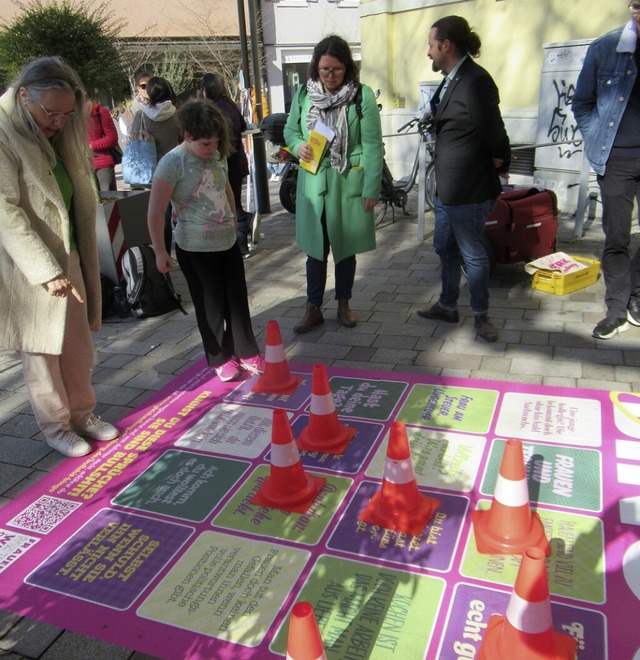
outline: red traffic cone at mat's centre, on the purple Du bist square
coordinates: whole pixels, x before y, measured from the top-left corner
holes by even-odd
[[[393,422],[387,446],[382,488],[359,519],[417,536],[427,526],[440,500],[418,492],[404,422]]]

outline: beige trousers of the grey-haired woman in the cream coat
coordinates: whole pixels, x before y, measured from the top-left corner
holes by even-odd
[[[68,277],[86,299],[80,258],[76,251],[69,259]],[[20,353],[31,407],[46,438],[69,429],[70,422],[81,423],[96,406],[91,385],[95,355],[87,308],[74,296],[67,298],[67,317],[61,355]]]

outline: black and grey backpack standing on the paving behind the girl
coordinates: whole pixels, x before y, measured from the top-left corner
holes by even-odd
[[[161,316],[179,309],[181,304],[169,273],[156,268],[156,255],[151,245],[135,245],[122,258],[122,272],[127,286],[127,302],[139,319]]]

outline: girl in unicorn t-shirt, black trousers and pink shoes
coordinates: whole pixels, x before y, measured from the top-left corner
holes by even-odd
[[[184,141],[158,163],[147,222],[161,273],[171,270],[163,238],[169,201],[175,213],[176,257],[187,280],[209,366],[221,380],[264,371],[251,328],[247,283],[236,243],[236,208],[227,175],[229,128],[207,99],[179,113]]]

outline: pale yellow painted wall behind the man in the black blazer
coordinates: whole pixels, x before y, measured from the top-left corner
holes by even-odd
[[[469,21],[482,40],[477,61],[493,75],[502,107],[519,109],[538,107],[544,44],[594,38],[629,20],[626,0],[467,0],[402,7],[397,0],[361,0],[361,77],[381,89],[387,108],[394,107],[394,97],[416,108],[419,83],[441,79],[431,70],[427,38],[443,16]],[[380,13],[367,15],[371,11]]]

